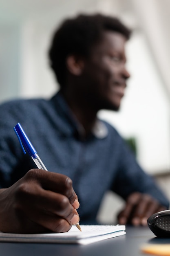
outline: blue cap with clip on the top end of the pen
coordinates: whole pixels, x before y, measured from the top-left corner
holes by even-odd
[[[20,144],[22,146],[22,150],[24,151],[24,154],[26,154],[26,152],[25,152],[23,146],[28,151],[30,156],[34,156],[34,154],[36,154],[37,151],[35,150],[35,148],[31,144],[31,141],[29,140],[29,138],[26,136],[26,133],[24,132],[24,130],[23,130],[22,126],[20,125],[20,123],[15,125],[15,127],[13,129],[14,129],[14,131],[15,131],[15,133],[16,133],[19,141],[20,141]]]

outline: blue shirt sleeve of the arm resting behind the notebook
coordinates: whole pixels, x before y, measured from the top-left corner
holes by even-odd
[[[112,190],[126,200],[133,192],[147,193],[161,205],[169,207],[169,201],[157,186],[153,177],[142,170],[135,155],[123,141],[119,155],[119,168],[112,184]]]

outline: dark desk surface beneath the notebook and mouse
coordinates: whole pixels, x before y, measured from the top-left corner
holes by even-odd
[[[145,243],[170,243],[158,239],[148,227],[126,227],[127,234],[90,245],[0,243],[2,256],[146,256],[140,252]],[[153,239],[154,238],[154,239]]]

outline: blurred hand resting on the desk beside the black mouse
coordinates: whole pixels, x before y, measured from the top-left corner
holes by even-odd
[[[126,206],[117,218],[120,225],[146,226],[147,219],[153,213],[163,210],[166,210],[166,207],[160,205],[150,195],[135,192],[127,198]]]

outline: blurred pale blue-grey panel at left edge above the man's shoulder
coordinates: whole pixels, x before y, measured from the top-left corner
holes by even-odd
[[[0,99],[18,95],[20,29],[18,24],[0,24]]]

